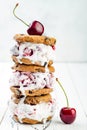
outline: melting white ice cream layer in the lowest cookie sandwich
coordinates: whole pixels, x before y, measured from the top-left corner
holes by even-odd
[[[19,104],[12,101],[9,103],[12,114],[17,115],[20,122],[23,118],[44,121],[55,113],[56,103],[53,99],[48,103],[43,102],[37,105],[24,104],[23,100]]]

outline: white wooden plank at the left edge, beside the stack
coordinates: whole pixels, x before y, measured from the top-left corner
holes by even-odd
[[[9,100],[10,63],[0,63],[0,121],[3,118]]]

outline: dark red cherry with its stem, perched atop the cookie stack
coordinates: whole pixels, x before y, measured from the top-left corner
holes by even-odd
[[[27,24],[25,21],[23,21],[22,19],[20,19],[16,13],[15,13],[15,10],[17,8],[19,4],[17,3],[13,9],[13,14],[14,16],[19,19],[22,23],[24,23],[26,26],[28,26],[28,29],[27,29],[27,33],[29,35],[42,35],[43,32],[44,32],[44,26],[42,23],[40,23],[39,21],[35,20],[32,22],[32,24]]]

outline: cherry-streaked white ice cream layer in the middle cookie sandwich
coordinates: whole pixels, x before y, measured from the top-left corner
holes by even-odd
[[[19,90],[33,90],[42,88],[54,88],[55,77],[52,73],[13,72],[10,78],[10,86],[20,86]]]

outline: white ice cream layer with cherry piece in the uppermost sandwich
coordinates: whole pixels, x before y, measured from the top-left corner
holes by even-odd
[[[32,63],[39,62],[42,66],[49,60],[54,61],[54,50],[51,46],[45,44],[33,44],[26,42],[20,45],[15,45],[11,49],[12,55],[16,55],[19,63],[20,59],[27,58],[32,61]]]

